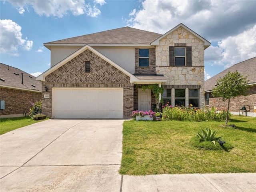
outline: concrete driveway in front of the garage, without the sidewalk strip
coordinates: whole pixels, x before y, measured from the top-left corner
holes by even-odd
[[[119,192],[123,122],[50,119],[1,135],[1,192]]]

